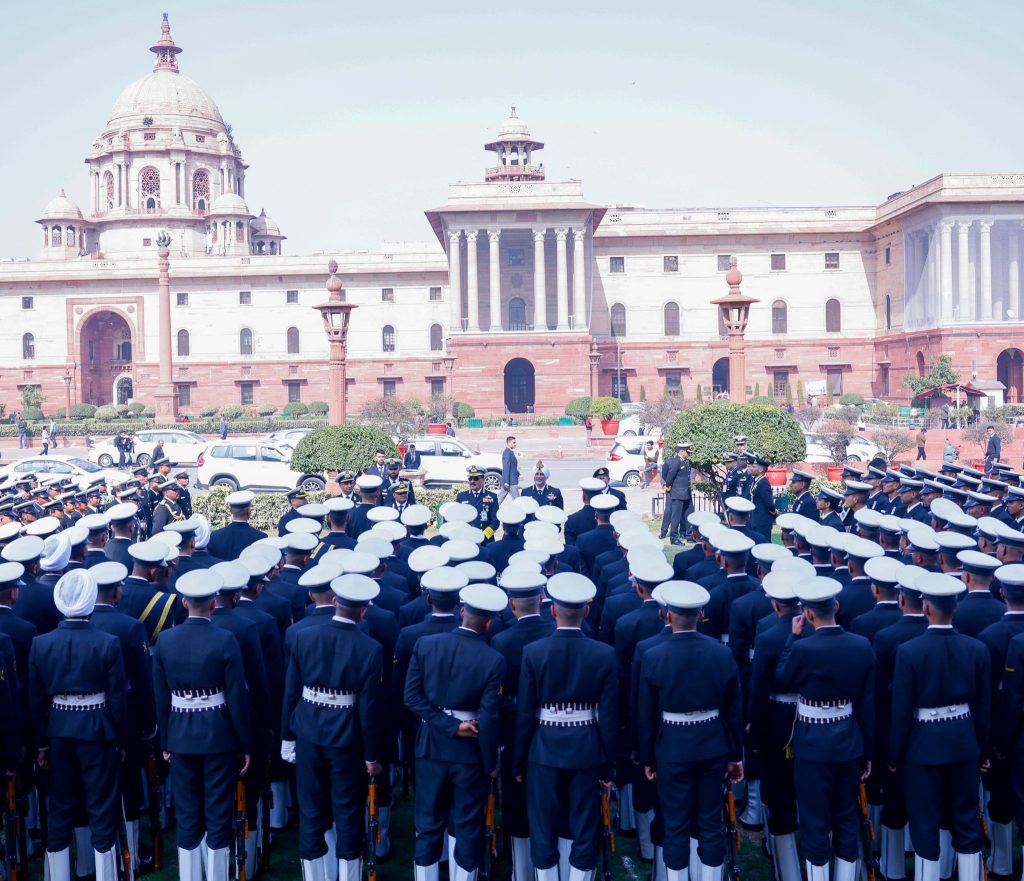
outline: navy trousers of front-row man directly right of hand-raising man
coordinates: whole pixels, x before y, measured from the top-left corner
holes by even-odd
[[[910,841],[925,859],[939,858],[939,827],[948,816],[953,849],[957,853],[981,850],[978,820],[978,761],[944,765],[907,763],[903,768]]]

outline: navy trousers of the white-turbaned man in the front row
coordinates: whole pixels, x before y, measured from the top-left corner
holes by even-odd
[[[46,849],[71,846],[76,793],[81,793],[89,819],[93,849],[110,850],[117,841],[121,820],[121,753],[112,743],[53,738],[47,757],[49,769]]]

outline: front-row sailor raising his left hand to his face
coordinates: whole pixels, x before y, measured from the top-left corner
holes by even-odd
[[[794,586],[803,614],[776,668],[776,687],[798,696],[792,746],[808,881],[827,881],[834,850],[836,881],[856,878],[857,787],[872,755],[874,656],[836,624],[840,590],[829,578]]]

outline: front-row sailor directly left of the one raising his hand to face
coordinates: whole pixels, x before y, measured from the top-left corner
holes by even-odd
[[[639,687],[640,762],[657,785],[669,881],[681,881],[689,838],[698,839],[701,881],[722,878],[722,781],[743,778],[739,677],[728,648],[696,632],[709,594],[699,585],[660,585],[672,636],[644,654]],[[688,670],[699,683],[680,687]],[[694,835],[694,833],[696,833]]]

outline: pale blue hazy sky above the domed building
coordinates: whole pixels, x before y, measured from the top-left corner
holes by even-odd
[[[1024,170],[1024,4],[7,0],[0,254],[38,256],[61,187],[87,209],[83,160],[164,11],[286,253],[431,241],[424,210],[482,180],[511,104],[548,179],[609,206],[876,205]]]

